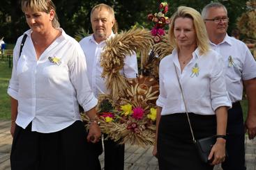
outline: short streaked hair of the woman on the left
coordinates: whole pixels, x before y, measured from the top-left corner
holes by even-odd
[[[46,12],[50,13],[50,10],[54,10],[54,19],[52,19],[52,26],[59,28],[58,16],[56,13],[56,7],[52,0],[22,0],[22,11],[32,10],[35,12]]]

